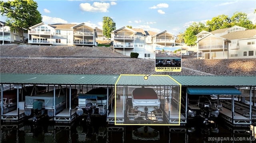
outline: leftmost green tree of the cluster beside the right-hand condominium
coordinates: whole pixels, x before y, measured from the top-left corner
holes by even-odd
[[[203,30],[208,30],[206,25],[201,22],[194,22],[190,25],[184,32],[184,41],[187,46],[194,46],[196,45],[196,34]]]

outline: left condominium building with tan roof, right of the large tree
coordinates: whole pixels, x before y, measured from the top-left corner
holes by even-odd
[[[81,24],[52,24],[43,22],[29,27],[28,43],[38,45],[95,46],[96,29]]]

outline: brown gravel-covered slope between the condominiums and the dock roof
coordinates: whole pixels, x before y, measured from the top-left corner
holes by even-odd
[[[129,58],[113,52],[108,47],[5,44],[0,46],[0,56],[2,73],[150,74],[154,72],[155,67],[154,60]],[[16,56],[16,58],[6,58],[6,56]],[[30,58],[17,56],[30,56]],[[42,56],[52,57],[38,58]],[[53,58],[56,56],[69,58]],[[256,59],[182,59],[181,72],[154,74],[256,76]]]

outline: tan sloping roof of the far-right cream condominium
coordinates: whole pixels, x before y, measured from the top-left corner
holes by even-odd
[[[246,29],[245,31],[236,31],[231,32],[226,35],[222,35],[225,39],[246,39],[246,38],[253,38],[256,35],[256,29]]]

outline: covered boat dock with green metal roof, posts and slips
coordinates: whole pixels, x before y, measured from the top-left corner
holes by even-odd
[[[72,123],[78,119],[78,100],[77,96],[73,95],[73,90],[76,94],[87,93],[90,89],[107,87],[112,88],[114,94],[108,94],[104,99],[106,109],[98,109],[98,114],[106,116],[106,122],[114,125],[167,125],[167,126],[182,126],[188,123],[188,119],[194,114],[189,110],[202,110],[199,105],[192,106],[188,104],[189,98],[193,96],[205,96],[215,94],[217,106],[216,115],[225,123],[234,127],[248,127],[255,122],[256,110],[252,105],[252,98],[256,93],[255,76],[169,76],[169,75],[150,75],[146,80],[144,75],[84,75],[84,74],[4,74],[0,73],[1,79],[1,99],[3,99],[3,87],[5,84],[15,84],[17,106],[16,110],[3,113],[3,100],[1,100],[1,121],[2,122],[21,122],[31,119],[32,116],[26,115],[26,109],[30,107],[31,115],[34,108],[34,102],[42,102],[42,107],[46,102],[38,94],[23,95],[22,91],[26,85],[44,86],[54,88],[47,103],[50,105],[46,110],[50,117],[50,121],[54,123]],[[200,79],[200,80],[198,80]],[[203,81],[203,82],[202,82]],[[60,96],[61,89],[66,90]],[[160,100],[160,106],[155,106],[154,110],[147,112],[148,105],[142,105],[145,112],[133,108],[132,91],[136,88],[152,88]],[[34,89],[34,88],[33,88]],[[72,93],[70,92],[72,90]],[[234,101],[234,97],[242,96],[241,90],[249,91],[247,106],[241,106],[240,102]],[[56,92],[58,91],[58,92]],[[68,91],[68,92],[67,92]],[[35,94],[35,90],[31,90]],[[44,93],[40,93],[44,94]],[[40,95],[39,94],[39,95]],[[230,99],[222,98],[221,95],[230,95]],[[24,101],[24,97],[28,100]],[[219,97],[220,96],[220,97]],[[40,98],[37,98],[40,97]],[[55,98],[54,98],[55,97]],[[74,98],[73,98],[74,97]],[[115,97],[115,98],[114,98]],[[60,99],[61,98],[61,99]],[[86,98],[89,99],[89,98]],[[94,98],[90,98],[93,100]],[[95,98],[96,99],[96,98]],[[105,102],[106,100],[106,102]],[[148,100],[145,98],[145,100]],[[103,101],[103,100],[102,100]],[[151,100],[148,100],[151,101]],[[30,102],[28,104],[28,102]],[[145,102],[145,101],[143,101]],[[226,103],[225,103],[226,102]],[[99,102],[97,102],[98,104]],[[146,103],[146,102],[145,102]],[[96,104],[96,102],[95,102]],[[224,104],[226,104],[224,106]],[[63,108],[56,110],[57,106]],[[213,105],[213,104],[212,104]],[[222,106],[220,110],[218,107]],[[228,106],[227,106],[228,105]],[[136,104],[140,106],[140,104]],[[7,107],[7,106],[5,106]],[[37,105],[37,107],[39,107]],[[85,105],[83,111],[85,111]],[[150,107],[150,108],[152,108]],[[140,107],[139,107],[140,108]],[[239,110],[238,110],[239,108]],[[41,110],[41,108],[40,108]],[[42,108],[42,111],[44,109]],[[140,109],[141,110],[141,109]],[[105,111],[105,112],[101,112]],[[190,116],[190,113],[192,116]],[[39,116],[43,114],[39,112]],[[97,115],[98,115],[97,114]],[[213,113],[211,113],[213,114]],[[87,114],[84,114],[87,116]],[[96,114],[95,114],[96,115]],[[189,117],[188,117],[189,116]],[[36,116],[38,117],[38,116]],[[217,117],[216,117],[217,118]],[[207,119],[207,118],[206,118]],[[210,119],[209,119],[210,120]]]

